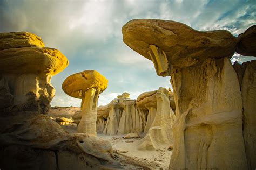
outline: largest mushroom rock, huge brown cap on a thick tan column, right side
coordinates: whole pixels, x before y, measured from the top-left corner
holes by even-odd
[[[153,19],[131,20],[122,33],[126,45],[153,61],[158,75],[171,76],[177,118],[170,169],[247,169],[252,157],[242,131],[245,99],[229,60],[237,39],[225,30],[201,32]]]

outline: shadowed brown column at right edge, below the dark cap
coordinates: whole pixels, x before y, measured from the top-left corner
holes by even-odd
[[[256,168],[256,60],[234,64],[242,93],[243,131],[249,169]]]

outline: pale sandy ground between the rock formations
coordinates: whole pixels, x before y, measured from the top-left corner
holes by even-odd
[[[72,118],[72,115],[80,110],[76,107],[61,107],[51,108],[49,116]],[[62,125],[62,128],[69,133],[77,133],[76,126]],[[128,138],[125,139],[125,135],[119,136],[107,136],[104,134],[98,134],[100,138],[109,140],[112,143],[114,153],[117,154],[123,160],[134,165],[140,165],[143,169],[168,169],[171,159],[172,151],[170,150],[158,150],[158,151],[140,151],[137,150],[139,140],[141,138]],[[125,162],[124,162],[125,163]]]

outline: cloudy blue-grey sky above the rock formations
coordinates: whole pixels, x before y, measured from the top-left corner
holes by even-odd
[[[137,98],[145,91],[171,88],[169,76],[157,76],[152,61],[123,42],[122,26],[139,18],[175,20],[196,30],[224,29],[238,36],[256,24],[256,1],[0,0],[0,32],[34,33],[45,47],[59,49],[70,62],[52,77],[52,106],[80,106],[81,100],[66,95],[61,86],[69,75],[88,69],[109,80],[98,105],[125,91]],[[231,61],[252,59],[235,53]]]

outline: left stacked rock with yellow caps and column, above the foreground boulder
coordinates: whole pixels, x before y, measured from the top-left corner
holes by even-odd
[[[0,33],[0,109],[46,114],[55,95],[51,77],[68,64],[58,49],[45,48],[34,34]]]

